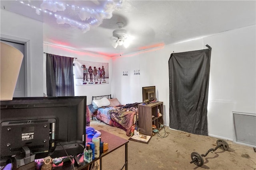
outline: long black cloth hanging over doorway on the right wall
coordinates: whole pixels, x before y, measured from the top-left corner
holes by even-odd
[[[169,59],[170,128],[208,135],[210,57],[211,48],[171,54]]]

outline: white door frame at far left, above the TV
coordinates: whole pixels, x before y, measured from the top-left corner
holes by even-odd
[[[14,37],[12,35],[0,34],[0,39],[12,43],[24,44],[24,63],[25,63],[25,97],[31,96],[31,50],[30,39]]]

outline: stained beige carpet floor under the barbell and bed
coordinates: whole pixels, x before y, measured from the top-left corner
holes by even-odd
[[[129,139],[124,130],[111,127],[102,122],[91,121],[90,126]],[[238,145],[226,141],[229,150],[217,149],[210,152],[204,159],[204,165],[199,167],[190,164],[192,152],[206,154],[216,147],[217,138],[194,135],[183,131],[175,131],[165,127],[168,137],[155,135],[148,144],[129,141],[128,170],[256,170],[256,152],[252,147]],[[162,129],[160,135],[164,135]],[[102,158],[103,170],[120,170],[124,164],[124,147],[115,150]]]

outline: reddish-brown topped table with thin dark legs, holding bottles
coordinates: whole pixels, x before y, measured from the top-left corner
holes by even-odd
[[[92,160],[92,162],[90,162],[90,163],[85,162],[84,157],[81,154],[80,156],[78,156],[78,159],[81,162],[80,166],[77,166],[76,163],[74,164],[76,170],[83,170],[86,167],[88,167],[89,165],[93,164],[97,160],[100,160],[100,170],[102,170],[102,158],[104,156],[108,155],[109,153],[113,152],[114,150],[124,146],[124,145],[125,145],[125,164],[121,169],[123,169],[125,167],[125,170],[128,170],[128,142],[129,141],[126,140],[126,139],[123,139],[121,137],[118,137],[116,135],[113,135],[111,133],[108,133],[106,131],[103,131],[103,130],[99,130],[99,131],[101,132],[101,140],[104,143],[108,143],[108,150],[105,151],[104,153],[102,153],[100,155],[100,157],[95,158],[94,160]],[[90,142],[91,140],[92,140],[91,138],[88,138],[86,136],[86,142]],[[74,163],[74,160],[72,160],[72,162]],[[53,167],[53,170],[61,170],[61,169],[73,170],[73,166],[70,163],[67,163],[67,164],[62,164],[61,166],[54,166]]]

